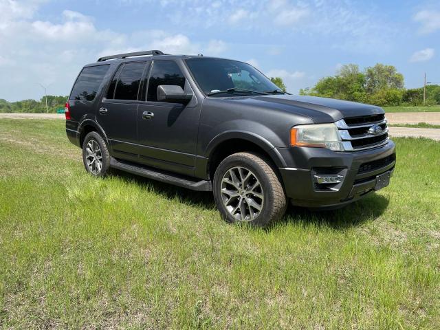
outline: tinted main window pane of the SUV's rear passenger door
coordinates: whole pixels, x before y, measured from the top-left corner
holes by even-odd
[[[115,99],[137,100],[137,91],[139,90],[144,67],[144,62],[124,64],[118,83],[116,83]]]

